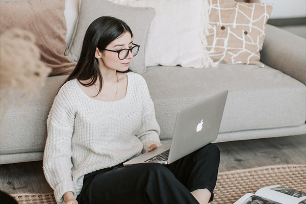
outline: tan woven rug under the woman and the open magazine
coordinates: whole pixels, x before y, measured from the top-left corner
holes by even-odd
[[[233,204],[246,193],[258,189],[282,185],[306,191],[306,165],[278,165],[219,172],[212,204]],[[19,204],[55,204],[53,193],[11,194]]]

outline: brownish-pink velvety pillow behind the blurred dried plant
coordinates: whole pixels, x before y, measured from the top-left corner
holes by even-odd
[[[30,31],[36,37],[41,60],[52,68],[49,76],[70,74],[75,63],[64,56],[67,48],[64,10],[64,0],[0,2],[0,34],[10,28]]]

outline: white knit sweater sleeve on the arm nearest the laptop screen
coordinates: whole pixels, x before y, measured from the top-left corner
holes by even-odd
[[[141,77],[141,99],[143,104],[143,114],[141,118],[141,127],[136,134],[138,139],[143,144],[142,152],[148,151],[147,148],[156,144],[161,146],[161,141],[159,139],[159,134],[161,132],[160,126],[156,120],[154,103],[151,99],[147,84],[145,80]]]

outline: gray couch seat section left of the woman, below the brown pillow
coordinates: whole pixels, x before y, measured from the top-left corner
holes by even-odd
[[[43,151],[47,138],[47,117],[60,85],[68,75],[48,77],[40,98],[25,107],[8,107],[0,125],[0,154]],[[20,96],[22,98],[22,96]]]

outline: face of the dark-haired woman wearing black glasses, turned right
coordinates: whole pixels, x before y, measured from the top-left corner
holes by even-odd
[[[132,47],[131,33],[124,32],[115,40],[113,40],[110,44],[108,44],[106,46],[106,49],[117,51],[120,49],[129,49],[131,47]],[[105,68],[114,69],[118,71],[126,71],[127,69],[129,69],[130,61],[132,58],[133,55],[131,52],[129,52],[129,55],[123,60],[120,60],[118,58],[118,53],[115,52],[103,50],[103,53],[101,53],[102,65]]]

